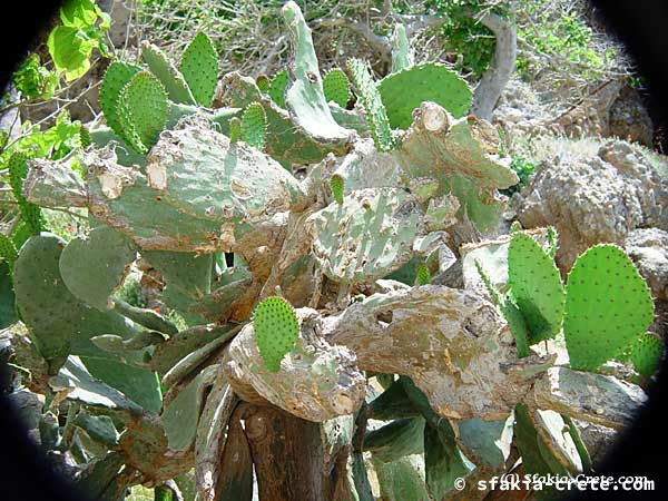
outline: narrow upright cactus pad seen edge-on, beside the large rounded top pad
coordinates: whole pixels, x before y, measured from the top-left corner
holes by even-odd
[[[392,136],[385,106],[376,84],[373,81],[369,65],[360,59],[351,58],[347,61],[347,70],[353,78],[360,100],[366,112],[369,130],[376,148],[380,151],[390,151],[396,146],[396,140]]]

